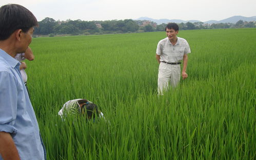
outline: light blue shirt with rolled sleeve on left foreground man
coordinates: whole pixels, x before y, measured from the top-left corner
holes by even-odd
[[[19,72],[20,64],[0,49],[0,132],[10,133],[21,159],[45,159],[34,109]]]

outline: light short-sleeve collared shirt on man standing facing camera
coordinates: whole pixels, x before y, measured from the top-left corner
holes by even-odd
[[[184,54],[190,53],[190,47],[186,39],[177,37],[178,40],[175,45],[172,45],[169,38],[162,39],[156,48],[156,54],[160,55],[160,61],[169,63],[181,62]]]

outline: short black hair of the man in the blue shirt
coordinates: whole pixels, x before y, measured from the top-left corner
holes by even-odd
[[[26,33],[35,26],[38,26],[37,20],[27,8],[16,4],[0,8],[0,41],[8,39],[17,29]]]

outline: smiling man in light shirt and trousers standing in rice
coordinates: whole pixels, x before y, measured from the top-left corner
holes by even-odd
[[[184,38],[177,37],[179,26],[175,23],[169,23],[166,28],[167,37],[162,39],[156,48],[155,58],[159,65],[158,88],[157,92],[163,95],[168,90],[169,82],[172,88],[175,88],[181,77],[181,61],[183,60],[182,77],[187,78],[186,73],[189,45]]]

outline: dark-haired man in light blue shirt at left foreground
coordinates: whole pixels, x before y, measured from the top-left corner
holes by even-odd
[[[0,159],[46,159],[40,130],[19,72],[17,53],[32,40],[35,16],[20,5],[0,8]]]

